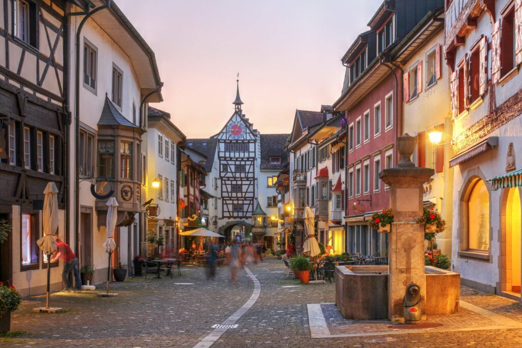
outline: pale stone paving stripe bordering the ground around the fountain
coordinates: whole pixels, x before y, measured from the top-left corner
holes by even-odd
[[[484,326],[484,327],[471,327],[471,328],[444,328],[440,329],[412,329],[412,330],[397,330],[397,331],[386,331],[386,332],[363,332],[363,333],[343,333],[343,334],[331,334],[328,326],[326,325],[326,319],[324,317],[321,304],[307,304],[308,309],[308,320],[310,326],[310,337],[314,339],[319,338],[341,338],[341,337],[368,337],[368,336],[384,336],[384,335],[397,335],[397,334],[411,334],[411,333],[434,333],[434,332],[463,332],[463,331],[483,331],[483,330],[506,330],[506,329],[519,329],[522,328],[522,323],[513,319],[506,318],[499,314],[493,313],[490,310],[484,309],[472,305],[466,301],[460,300],[460,306],[462,308],[474,311],[484,317],[487,317],[499,325]]]

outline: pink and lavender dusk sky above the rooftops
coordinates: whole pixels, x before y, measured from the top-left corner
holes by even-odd
[[[243,112],[261,133],[290,133],[295,109],[341,94],[340,59],[382,0],[119,0],[156,53],[162,103],[188,138],[218,133]]]

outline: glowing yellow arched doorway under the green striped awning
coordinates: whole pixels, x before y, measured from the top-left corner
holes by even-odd
[[[501,269],[502,290],[520,294],[520,255],[522,224],[520,191],[518,187],[506,189],[502,205]]]

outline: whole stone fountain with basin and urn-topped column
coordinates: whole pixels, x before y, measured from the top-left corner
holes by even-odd
[[[397,139],[400,161],[379,177],[390,187],[394,222],[389,234],[388,266],[338,266],[336,304],[348,319],[404,319],[406,287],[416,283],[421,290],[421,311],[453,314],[458,310],[460,275],[424,266],[424,226],[417,223],[423,213],[423,184],[433,169],[416,167],[411,155],[416,137]]]

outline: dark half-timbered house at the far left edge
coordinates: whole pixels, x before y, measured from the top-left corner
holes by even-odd
[[[59,191],[58,230],[66,237],[65,8],[63,0],[0,3],[0,220],[10,225],[0,241],[0,281],[24,295],[45,291],[48,263],[36,241],[49,182]],[[62,273],[55,263],[54,290]]]

